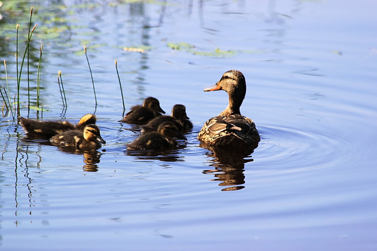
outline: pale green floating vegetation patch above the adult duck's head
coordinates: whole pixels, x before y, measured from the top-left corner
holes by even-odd
[[[172,50],[180,50],[188,53],[192,53],[193,55],[199,56],[209,56],[209,57],[230,57],[235,56],[238,53],[265,53],[262,50],[221,50],[220,48],[216,48],[211,52],[199,51],[194,45],[188,43],[172,43],[168,42],[167,47]]]

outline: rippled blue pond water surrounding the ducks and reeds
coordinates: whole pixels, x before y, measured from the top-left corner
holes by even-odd
[[[12,96],[15,26],[21,54],[34,6],[31,104],[43,43],[48,111],[38,116],[77,122],[95,112],[107,142],[93,153],[64,152],[26,138],[3,111],[2,250],[377,249],[377,2],[2,2],[0,55]],[[159,154],[127,151],[140,130],[117,122],[115,59],[126,110],[148,96],[168,113],[184,104],[194,124],[186,142]],[[245,75],[241,113],[261,134],[245,158],[196,139],[227,105],[224,91],[203,89],[230,69]],[[0,74],[6,87],[4,66]],[[20,95],[21,116],[36,118],[24,108],[26,71]]]

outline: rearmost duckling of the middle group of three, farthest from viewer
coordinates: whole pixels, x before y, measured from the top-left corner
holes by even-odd
[[[118,122],[124,122],[133,125],[145,125],[151,119],[165,114],[165,111],[160,107],[160,102],[154,97],[147,97],[144,99],[143,105],[135,105],[131,110]]]

